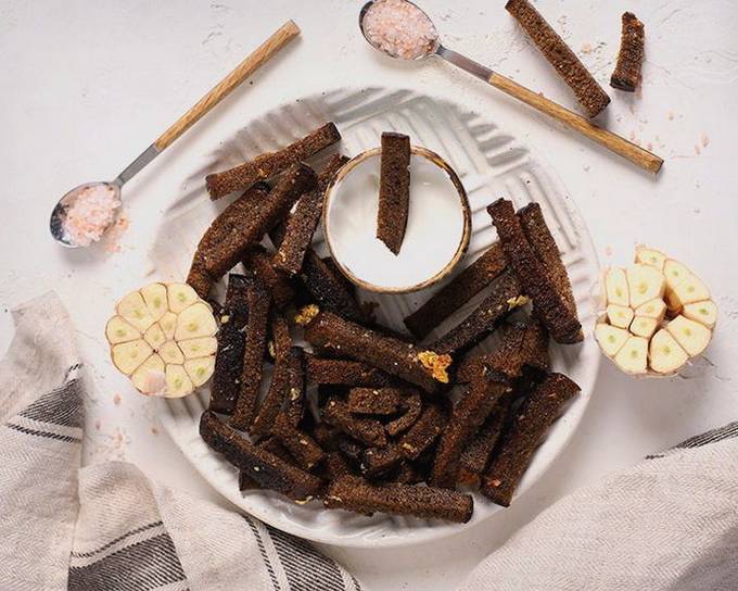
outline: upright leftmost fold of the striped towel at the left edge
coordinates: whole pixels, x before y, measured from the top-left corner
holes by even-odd
[[[80,366],[59,300],[13,316],[0,364],[0,589],[61,590],[77,519]]]

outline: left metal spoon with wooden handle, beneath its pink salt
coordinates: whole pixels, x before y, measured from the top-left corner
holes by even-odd
[[[170,146],[179,136],[187,131],[195,122],[198,122],[205,113],[218,104],[226,98],[231,90],[239,86],[245,78],[253,74],[258,67],[264,65],[275,53],[277,53],[289,41],[300,35],[300,27],[292,21],[288,21],[279,27],[264,43],[256,48],[250,55],[247,55],[233,71],[220,80],[215,87],[211,89],[196,104],[194,104],[187,113],[179,117],[164,134],[162,134],[149,148],[147,148],[141,155],[131,162],[116,178],[110,183],[86,183],[72,189],[54,206],[51,212],[51,221],[49,229],[51,236],[60,244],[68,248],[80,248],[87,244],[77,244],[72,237],[64,231],[64,219],[66,213],[78,197],[78,193],[88,187],[101,186],[107,187],[114,191],[115,197],[120,199],[120,189],[128,183],[136,174],[141,171],[147,164],[161,154],[165,148]]]

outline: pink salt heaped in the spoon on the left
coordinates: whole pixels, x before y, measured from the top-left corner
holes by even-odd
[[[110,185],[88,185],[75,189],[72,205],[64,217],[64,232],[72,242],[88,247],[102,238],[120,206],[117,192]]]

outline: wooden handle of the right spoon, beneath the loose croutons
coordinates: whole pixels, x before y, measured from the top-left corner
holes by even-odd
[[[620,154],[637,166],[640,166],[641,168],[654,174],[661,169],[661,165],[664,161],[656,154],[642,149],[640,146],[636,146],[625,138],[613,134],[612,131],[608,131],[607,129],[598,127],[594,123],[585,120],[583,116],[577,115],[573,111],[570,111],[558,103],[555,103],[543,95],[533,92],[533,90],[519,85],[517,81],[506,78],[505,76],[494,72],[487,81],[502,92],[514,97],[519,101],[524,102],[536,111],[546,113],[555,120],[560,121],[567,127],[578,131],[583,136],[588,137],[590,140],[596,141],[600,146],[605,146],[608,150]]]

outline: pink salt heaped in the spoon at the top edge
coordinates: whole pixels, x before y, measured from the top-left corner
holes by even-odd
[[[430,18],[406,0],[377,0],[362,21],[369,42],[403,60],[415,60],[428,53],[438,34]]]

